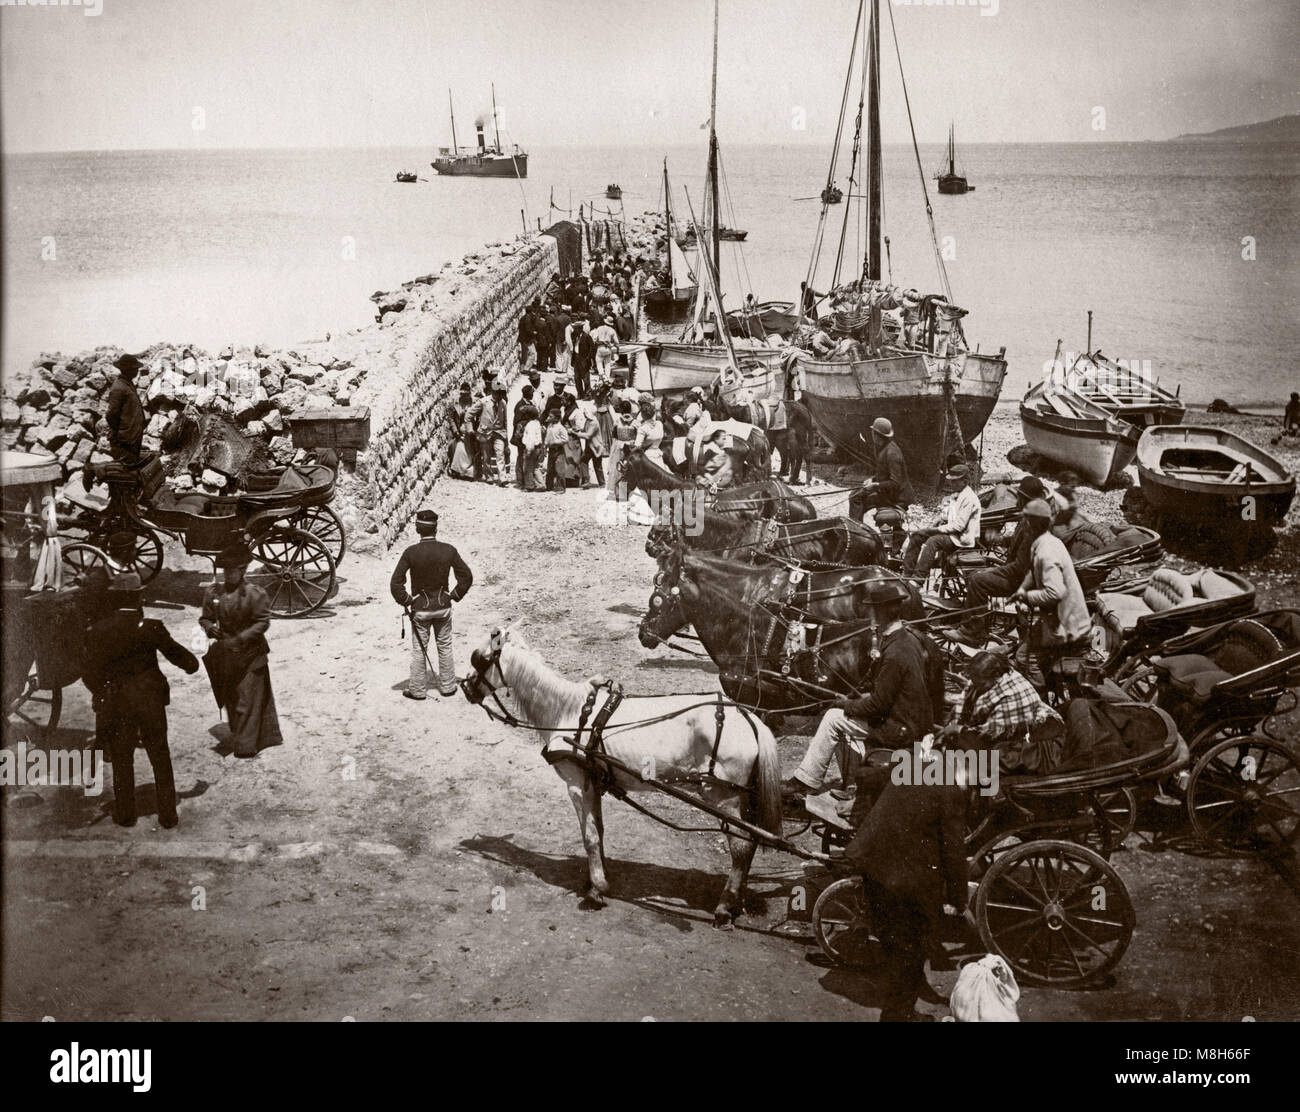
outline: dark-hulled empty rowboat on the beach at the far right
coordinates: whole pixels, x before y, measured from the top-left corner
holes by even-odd
[[[1264,449],[1202,425],[1148,428],[1138,445],[1138,479],[1161,518],[1217,528],[1278,525],[1296,490],[1295,477]]]

